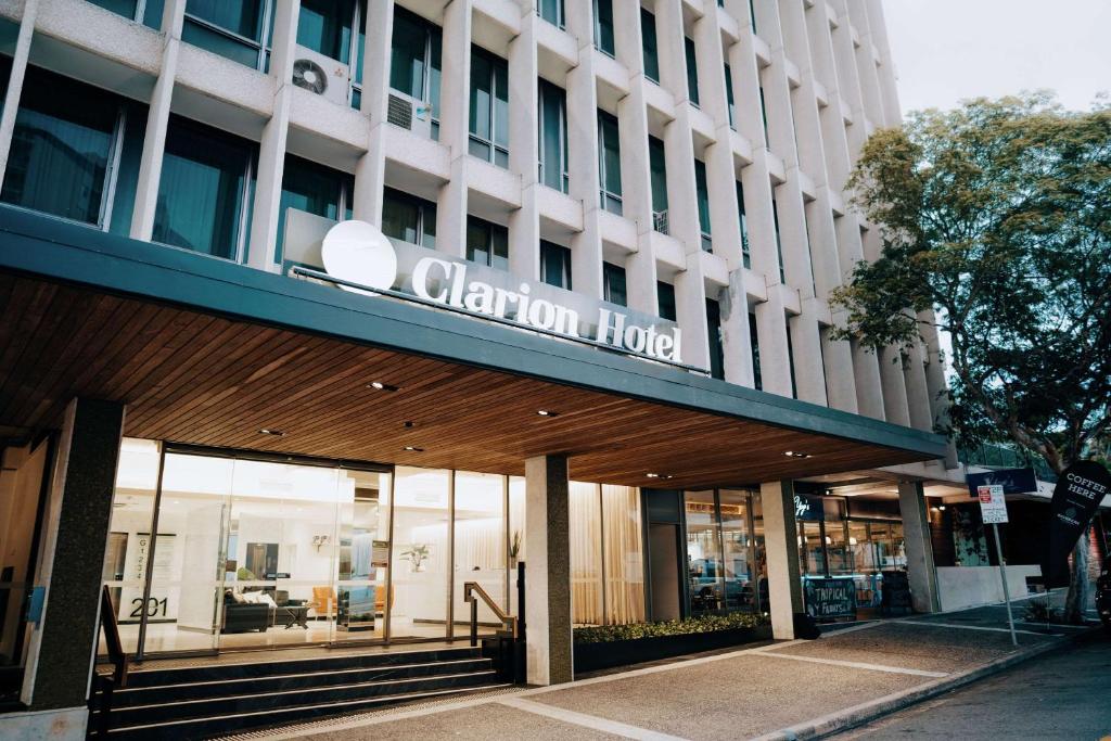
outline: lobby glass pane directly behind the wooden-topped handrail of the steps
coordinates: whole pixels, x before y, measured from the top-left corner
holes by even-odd
[[[471,605],[463,601],[463,584],[479,585],[506,609],[506,478],[492,473],[456,471],[456,634],[470,630]],[[479,632],[492,633],[501,621],[479,600]]]

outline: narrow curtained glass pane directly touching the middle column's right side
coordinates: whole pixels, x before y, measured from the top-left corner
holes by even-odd
[[[602,615],[602,515],[598,484],[570,482],[571,622],[600,625]],[[527,578],[527,577],[526,577]]]

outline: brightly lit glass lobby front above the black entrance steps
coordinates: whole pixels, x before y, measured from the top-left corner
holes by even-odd
[[[523,485],[519,477],[124,439],[104,562],[124,649],[466,634],[463,582],[508,605]],[[484,604],[479,621],[483,631],[500,624]]]

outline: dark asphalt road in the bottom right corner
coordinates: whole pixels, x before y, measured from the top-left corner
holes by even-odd
[[[1111,638],[1098,633],[830,738],[1111,739]]]

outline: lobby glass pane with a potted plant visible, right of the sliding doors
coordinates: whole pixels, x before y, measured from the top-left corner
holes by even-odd
[[[401,465],[394,470],[393,638],[447,633],[450,475],[450,471]]]

